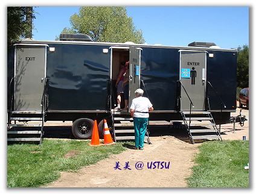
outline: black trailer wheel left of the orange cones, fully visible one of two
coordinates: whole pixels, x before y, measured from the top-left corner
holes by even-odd
[[[72,133],[77,139],[91,139],[94,121],[87,118],[77,119],[73,122]]]

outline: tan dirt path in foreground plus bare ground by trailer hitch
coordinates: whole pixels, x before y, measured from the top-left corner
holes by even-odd
[[[232,116],[237,116],[239,110]],[[248,119],[245,126],[236,124],[234,133],[232,124],[222,125],[222,139],[242,140],[243,136],[249,139],[249,111],[243,110],[242,114]],[[193,155],[200,143],[192,145],[176,138],[181,134],[175,136],[151,137],[152,145],[145,144],[142,151],[128,148],[97,164],[82,167],[78,173],[61,172],[61,178],[46,187],[187,187],[185,178],[191,175]],[[163,163],[159,166],[155,163],[153,169],[153,163],[158,161]],[[127,162],[130,170],[124,169]],[[121,170],[115,169],[117,163]],[[144,166],[139,169],[142,163]]]

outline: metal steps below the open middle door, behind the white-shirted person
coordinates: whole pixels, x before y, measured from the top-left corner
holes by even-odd
[[[114,111],[114,114],[112,114],[112,116],[114,120],[113,134],[115,141],[135,139],[133,118],[130,116],[130,113],[121,113],[118,111]],[[147,143],[150,143],[148,129],[146,130],[144,140],[147,140]]]

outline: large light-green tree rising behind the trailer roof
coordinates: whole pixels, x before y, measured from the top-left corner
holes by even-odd
[[[62,33],[87,34],[94,42],[145,42],[125,7],[80,7],[69,21],[71,28]]]

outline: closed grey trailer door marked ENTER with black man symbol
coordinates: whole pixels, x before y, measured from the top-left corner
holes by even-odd
[[[190,110],[190,97],[193,111],[205,110],[206,90],[206,51],[180,52],[181,111]],[[187,92],[187,93],[186,93]]]

